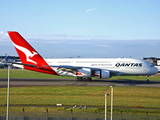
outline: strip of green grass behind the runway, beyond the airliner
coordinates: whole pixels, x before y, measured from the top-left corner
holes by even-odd
[[[0,69],[0,78],[7,78],[8,77],[8,70],[7,69]],[[68,78],[68,79],[75,79],[75,77],[67,77],[67,76],[57,76],[57,75],[50,75],[45,73],[34,72],[30,70],[13,70],[11,69],[10,72],[11,78]],[[95,79],[95,78],[93,78]],[[114,76],[111,77],[109,80],[144,80],[146,81],[146,76]],[[150,80],[152,81],[160,81],[159,76],[151,76]]]

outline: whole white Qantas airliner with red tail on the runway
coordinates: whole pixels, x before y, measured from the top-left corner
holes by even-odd
[[[91,81],[91,77],[110,78],[112,76],[151,76],[158,72],[151,63],[132,58],[104,59],[44,59],[18,33],[8,31],[23,68],[52,75],[77,77],[77,80]],[[148,78],[147,78],[148,80]]]

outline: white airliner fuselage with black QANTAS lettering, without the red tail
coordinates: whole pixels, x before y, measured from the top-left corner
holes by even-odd
[[[153,75],[158,72],[151,63],[132,58],[45,59],[45,61],[50,66],[96,68],[117,72],[117,75]]]

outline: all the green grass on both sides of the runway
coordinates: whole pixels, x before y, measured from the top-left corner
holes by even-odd
[[[11,70],[11,78],[55,78],[53,76],[41,74],[27,70]],[[7,78],[7,70],[0,70],[0,78]],[[65,77],[68,78],[68,77]],[[114,79],[134,79],[145,80],[146,77],[117,77]],[[159,77],[151,77],[153,80],[159,80]],[[150,80],[151,80],[150,79]],[[107,87],[85,87],[85,86],[50,86],[50,87],[17,87],[10,89],[10,105],[56,105],[58,103],[73,106],[74,104],[88,106],[104,107],[104,95],[110,93]],[[7,89],[0,88],[0,105],[7,103]],[[108,96],[108,106],[110,106],[110,95]],[[136,108],[160,108],[160,90],[159,88],[145,87],[114,87],[114,106]],[[45,111],[45,107],[26,107],[28,111]],[[70,110],[68,107],[55,108],[50,107],[50,111]],[[21,111],[22,107],[10,107],[11,111]],[[87,109],[89,112],[104,112],[104,108],[95,107]],[[110,109],[108,109],[109,111]],[[6,107],[0,107],[0,111],[6,111]],[[78,110],[77,110],[78,111]],[[132,110],[132,109],[114,109],[114,112],[150,112],[160,114],[159,110]]]

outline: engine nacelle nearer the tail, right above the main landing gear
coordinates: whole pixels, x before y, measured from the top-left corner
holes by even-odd
[[[89,68],[82,68],[77,70],[78,77],[91,77],[91,69]]]

